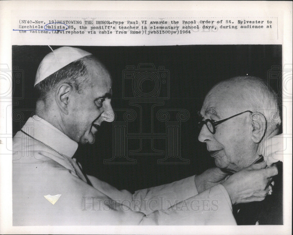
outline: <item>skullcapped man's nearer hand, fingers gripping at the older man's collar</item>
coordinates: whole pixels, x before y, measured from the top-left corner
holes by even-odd
[[[265,168],[264,162],[253,164],[231,175],[222,185],[232,204],[262,201],[269,192],[272,176],[278,174],[276,166]]]

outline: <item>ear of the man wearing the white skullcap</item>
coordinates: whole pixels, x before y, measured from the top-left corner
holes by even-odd
[[[68,114],[68,103],[69,103],[69,95],[72,92],[72,86],[68,83],[62,83],[58,86],[55,92],[55,101],[59,107],[59,109],[64,113]]]

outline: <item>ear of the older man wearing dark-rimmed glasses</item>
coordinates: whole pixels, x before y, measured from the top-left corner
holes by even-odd
[[[254,143],[260,143],[267,130],[267,120],[262,113],[253,112],[251,114],[251,123],[253,127],[251,131],[251,139]]]

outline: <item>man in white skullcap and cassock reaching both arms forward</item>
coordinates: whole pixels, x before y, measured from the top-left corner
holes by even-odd
[[[72,158],[113,121],[112,80],[91,53],[60,47],[35,78],[35,115],[13,138],[13,225],[236,224],[232,204],[262,200],[275,167],[230,176],[219,168],[170,184],[119,191]],[[20,164],[22,163],[22,164]],[[256,183],[257,179],[257,183]]]

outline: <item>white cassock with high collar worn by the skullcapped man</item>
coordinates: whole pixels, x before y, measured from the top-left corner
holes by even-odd
[[[236,224],[222,185],[198,194],[191,176],[131,194],[87,176],[91,186],[72,159],[75,141],[38,116],[22,131],[44,144],[13,138],[13,226]]]

